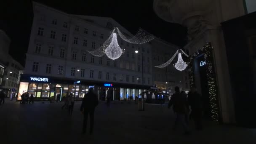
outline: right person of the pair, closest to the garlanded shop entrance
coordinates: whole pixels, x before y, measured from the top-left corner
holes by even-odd
[[[196,88],[192,88],[192,91],[189,92],[188,100],[192,110],[190,117],[194,120],[196,129],[202,130],[203,98],[199,93],[197,93]]]

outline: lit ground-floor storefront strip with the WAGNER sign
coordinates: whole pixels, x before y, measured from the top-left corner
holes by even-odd
[[[56,100],[58,94],[61,95],[61,99],[72,94],[76,100],[81,100],[89,88],[94,88],[98,99],[105,101],[107,94],[110,95],[111,100],[128,100],[128,98],[135,100],[135,96],[150,87],[23,74],[20,79],[17,100],[21,100],[21,95],[25,92],[29,93],[29,96],[33,94],[36,100],[49,98]]]

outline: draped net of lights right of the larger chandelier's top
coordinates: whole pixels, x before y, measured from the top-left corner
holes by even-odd
[[[117,29],[118,35],[125,40],[128,43],[133,43],[133,44],[143,44],[143,43],[148,43],[149,41],[153,40],[155,37],[151,34],[149,34],[148,32],[144,31],[143,29],[139,29],[139,31],[136,33],[136,35],[134,35],[131,38],[127,38],[125,37],[125,35],[122,34],[122,32],[120,32],[120,30],[118,28]]]

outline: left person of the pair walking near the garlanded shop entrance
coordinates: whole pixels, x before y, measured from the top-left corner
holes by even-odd
[[[189,134],[188,125],[186,123],[186,114],[189,112],[187,96],[180,93],[178,86],[175,87],[175,93],[169,101],[168,108],[171,106],[173,106],[173,112],[176,114],[173,130],[176,131],[178,123],[181,123],[185,134]]]

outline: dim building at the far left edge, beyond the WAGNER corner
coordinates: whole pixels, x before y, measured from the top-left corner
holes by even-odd
[[[0,89],[6,97],[16,96],[19,87],[19,71],[22,65],[14,60],[9,54],[11,39],[0,30]]]

